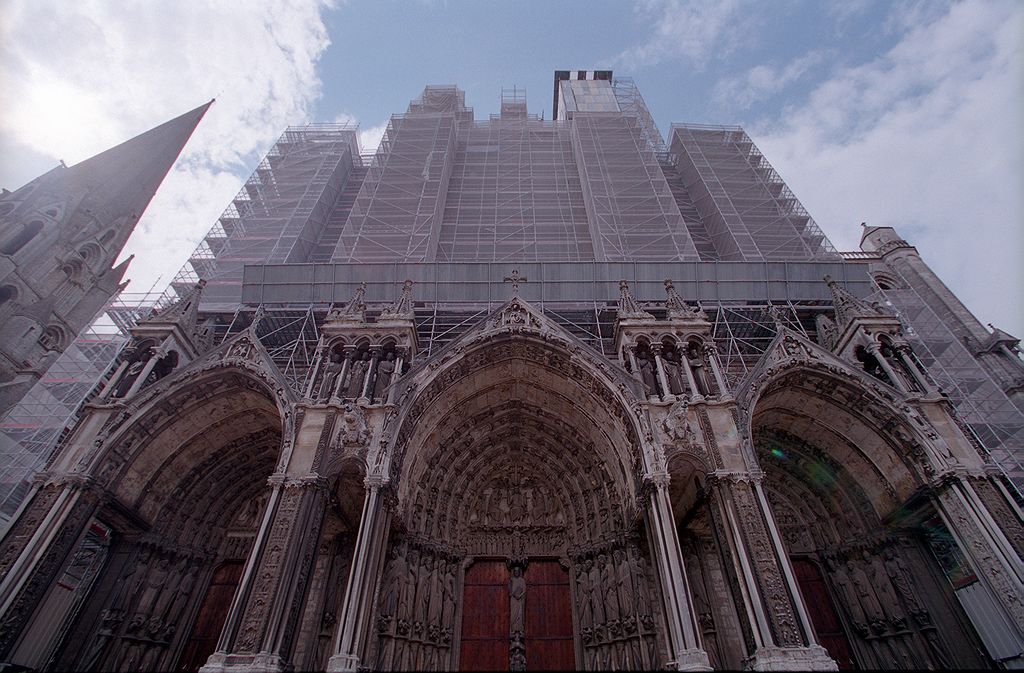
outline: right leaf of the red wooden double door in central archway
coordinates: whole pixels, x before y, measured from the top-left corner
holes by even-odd
[[[525,577],[526,670],[575,669],[568,572],[558,561],[531,560]]]

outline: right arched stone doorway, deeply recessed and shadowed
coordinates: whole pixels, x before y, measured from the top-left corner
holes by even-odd
[[[766,385],[752,419],[797,584],[819,643],[840,667],[984,666],[936,558],[944,529],[920,496],[925,480],[907,419],[856,380],[808,368]]]

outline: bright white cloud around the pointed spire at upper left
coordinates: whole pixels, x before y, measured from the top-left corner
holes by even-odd
[[[15,0],[4,6],[0,134],[76,163],[217,101],[126,247],[132,291],[166,283],[289,124],[318,97],[328,0],[112,3]],[[16,141],[11,138],[16,138]],[[35,177],[17,157],[0,183]],[[162,289],[162,288],[161,288]]]

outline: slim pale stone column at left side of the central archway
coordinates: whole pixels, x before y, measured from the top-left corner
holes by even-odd
[[[388,513],[384,509],[384,497],[381,493],[385,486],[378,476],[367,477],[359,533],[355,540],[345,598],[338,614],[334,655],[327,665],[329,672],[355,671],[360,665],[366,629],[373,611],[374,589],[380,574],[381,554],[387,542]]]

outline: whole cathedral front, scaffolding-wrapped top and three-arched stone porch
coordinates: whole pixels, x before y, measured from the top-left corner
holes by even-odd
[[[555,103],[283,136],[33,478],[0,660],[1024,664],[1016,340],[892,228],[833,250],[741,129]]]

